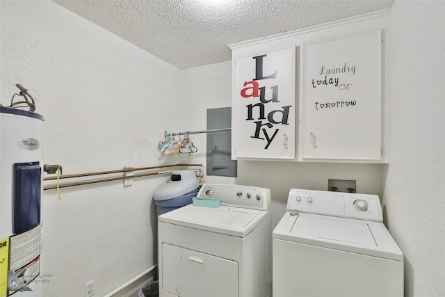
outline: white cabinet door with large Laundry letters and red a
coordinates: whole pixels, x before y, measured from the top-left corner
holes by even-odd
[[[236,58],[232,116],[237,159],[295,158],[295,45]]]

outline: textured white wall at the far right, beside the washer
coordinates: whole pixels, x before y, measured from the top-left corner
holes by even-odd
[[[445,292],[444,16],[444,1],[396,1],[387,35],[383,202],[409,297]]]

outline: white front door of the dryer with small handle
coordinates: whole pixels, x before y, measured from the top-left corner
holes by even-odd
[[[239,296],[238,263],[232,260],[163,243],[162,265],[161,289],[174,296]]]

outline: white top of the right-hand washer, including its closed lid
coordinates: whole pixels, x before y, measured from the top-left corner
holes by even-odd
[[[381,222],[288,211],[275,230],[273,239],[332,248],[362,255],[403,261],[403,253]]]

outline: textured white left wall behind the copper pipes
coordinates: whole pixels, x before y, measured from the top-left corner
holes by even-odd
[[[74,174],[158,164],[178,127],[181,72],[49,1],[1,1],[1,103],[38,99],[44,162]],[[44,191],[45,296],[104,296],[156,263],[152,192],[168,177]],[[152,216],[152,218],[154,218]]]

